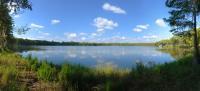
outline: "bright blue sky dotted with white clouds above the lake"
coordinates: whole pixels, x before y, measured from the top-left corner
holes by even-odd
[[[77,42],[155,42],[170,38],[165,0],[31,0],[33,11],[13,15],[31,28],[15,37]]]

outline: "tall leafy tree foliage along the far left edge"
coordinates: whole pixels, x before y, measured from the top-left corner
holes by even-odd
[[[17,13],[21,9],[31,10],[30,2],[28,0],[0,0],[0,50],[10,48],[14,44],[14,24],[10,13]]]

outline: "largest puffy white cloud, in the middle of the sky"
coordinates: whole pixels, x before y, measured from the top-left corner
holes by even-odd
[[[97,32],[103,32],[106,29],[113,30],[115,27],[118,27],[117,22],[103,17],[95,18],[93,25],[97,28]]]

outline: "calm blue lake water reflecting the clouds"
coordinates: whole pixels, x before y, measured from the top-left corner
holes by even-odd
[[[132,68],[137,62],[162,64],[174,61],[169,53],[153,46],[38,46],[42,50],[23,51],[54,64],[80,64],[87,67]]]

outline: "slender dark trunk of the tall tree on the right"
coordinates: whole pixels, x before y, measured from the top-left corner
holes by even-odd
[[[197,34],[197,16],[196,12],[193,13],[193,20],[194,20],[194,59],[200,64],[200,54],[199,54],[199,41],[198,41],[198,34]]]

